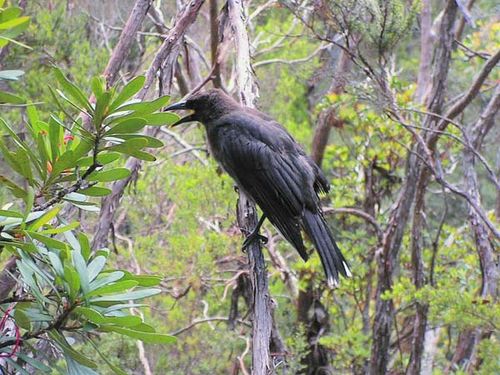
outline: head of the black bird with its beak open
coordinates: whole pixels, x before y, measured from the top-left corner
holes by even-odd
[[[171,104],[165,108],[165,111],[192,110],[188,116],[181,118],[172,126],[177,126],[186,122],[199,121],[204,125],[229,113],[237,108],[239,104],[225,94],[220,89],[211,89],[199,91],[189,95],[185,100]]]

